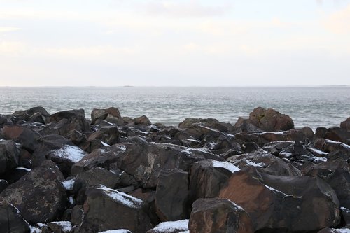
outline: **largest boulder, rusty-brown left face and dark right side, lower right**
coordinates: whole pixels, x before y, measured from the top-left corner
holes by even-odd
[[[228,198],[247,211],[255,231],[307,232],[340,222],[335,191],[318,177],[237,171],[219,197]]]

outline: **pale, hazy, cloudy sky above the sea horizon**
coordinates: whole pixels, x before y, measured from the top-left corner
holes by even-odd
[[[0,86],[350,85],[350,0],[0,0]]]

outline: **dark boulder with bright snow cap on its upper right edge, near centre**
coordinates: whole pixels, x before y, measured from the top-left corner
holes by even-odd
[[[190,201],[202,197],[218,197],[228,179],[238,167],[229,162],[202,160],[190,168]]]

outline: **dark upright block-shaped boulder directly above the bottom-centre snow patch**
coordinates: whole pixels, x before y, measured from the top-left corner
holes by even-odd
[[[189,217],[188,172],[181,169],[162,169],[155,192],[157,215],[162,222]]]

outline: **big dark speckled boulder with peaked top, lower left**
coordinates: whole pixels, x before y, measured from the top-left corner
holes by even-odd
[[[66,204],[63,179],[56,164],[45,161],[3,190],[0,201],[13,204],[31,224],[57,220]]]

